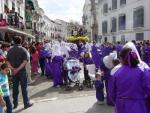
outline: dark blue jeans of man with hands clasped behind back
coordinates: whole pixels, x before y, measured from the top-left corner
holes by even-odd
[[[27,90],[27,87],[28,87],[27,73],[25,70],[22,72],[19,72],[15,76],[13,76],[13,103],[14,103],[14,106],[18,106],[19,83],[21,84],[24,106],[26,106],[29,104],[29,98],[28,98],[28,90]]]

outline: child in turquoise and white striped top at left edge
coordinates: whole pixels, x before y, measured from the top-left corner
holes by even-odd
[[[0,71],[0,86],[2,88],[2,91],[4,93],[3,99],[6,103],[7,107],[7,113],[12,113],[12,103],[10,99],[10,92],[9,92],[9,83],[8,83],[8,76],[9,73],[9,67],[7,63],[3,63],[1,65],[1,71]]]

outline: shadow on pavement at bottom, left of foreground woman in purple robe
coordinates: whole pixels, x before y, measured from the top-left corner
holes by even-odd
[[[109,106],[110,108],[113,109],[113,107]],[[106,108],[106,109],[104,109]],[[105,111],[102,111],[102,110]],[[91,108],[89,108],[85,113],[113,113],[112,109],[108,109],[108,106],[106,104],[104,105],[98,105],[95,103]]]

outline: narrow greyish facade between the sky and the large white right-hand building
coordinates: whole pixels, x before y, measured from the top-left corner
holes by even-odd
[[[92,3],[94,2],[94,3]],[[83,27],[86,30],[86,35],[91,37],[91,40],[98,41],[98,4],[99,0],[85,0],[83,7]]]

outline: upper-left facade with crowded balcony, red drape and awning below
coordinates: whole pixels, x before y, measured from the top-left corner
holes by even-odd
[[[32,37],[25,30],[25,0],[0,0],[0,40],[11,42],[12,37]]]

